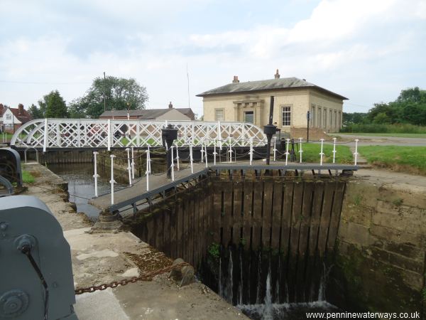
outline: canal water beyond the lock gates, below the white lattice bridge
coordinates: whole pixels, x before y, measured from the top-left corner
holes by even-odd
[[[85,213],[91,219],[97,218],[99,209],[87,203],[94,197],[93,164],[49,164],[48,169],[67,181],[70,202],[76,204],[77,212]],[[102,171],[102,166],[98,166],[98,174],[98,194],[109,193],[111,191],[109,172]],[[124,186],[116,183],[114,189]]]

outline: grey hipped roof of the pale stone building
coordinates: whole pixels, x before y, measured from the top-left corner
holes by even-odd
[[[222,85],[222,87],[217,87],[215,89],[202,92],[198,94],[197,97],[206,97],[208,95],[225,95],[230,93],[232,94],[232,93],[264,91],[264,90],[280,90],[280,89],[294,89],[294,88],[308,88],[308,87],[315,88],[329,95],[334,95],[335,97],[339,97],[339,99],[342,99],[342,100],[348,100],[348,98],[342,95],[338,95],[337,93],[324,89],[323,87],[319,87],[317,85],[314,85],[313,83],[307,82],[306,80],[301,80],[295,77],[229,83],[228,85]]]

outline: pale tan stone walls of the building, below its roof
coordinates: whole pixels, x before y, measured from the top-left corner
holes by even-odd
[[[269,90],[253,94],[243,93],[204,97],[204,121],[217,121],[215,110],[218,109],[224,110],[224,121],[239,122],[244,121],[244,112],[253,111],[254,124],[263,127],[263,125],[268,123],[271,95],[275,97],[273,122],[276,122],[276,125],[283,132],[290,132],[290,127],[306,128],[306,113],[308,110],[312,111],[312,105],[320,106],[322,112],[326,108],[327,119],[329,117],[329,110],[332,110],[332,117],[334,117],[334,111],[337,112],[337,115],[339,112],[342,114],[342,100],[324,95],[316,90]],[[283,125],[282,109],[285,106],[291,107],[290,126]],[[342,116],[340,117],[340,121],[342,121]],[[327,132],[337,132],[339,128],[339,124],[334,126],[334,120],[331,124],[327,120],[324,130],[327,130]]]

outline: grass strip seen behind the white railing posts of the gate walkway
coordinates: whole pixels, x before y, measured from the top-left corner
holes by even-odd
[[[299,146],[299,145],[297,145]],[[310,162],[313,164],[320,163],[320,151],[321,144],[302,144],[302,162]],[[297,149],[295,150],[298,151]],[[322,162],[324,164],[333,163],[333,146],[332,144],[324,144],[323,152],[324,156]],[[299,153],[297,153],[297,159],[299,158]],[[336,163],[337,164],[352,164],[354,160],[352,159],[352,153],[349,149],[349,146],[336,146]]]

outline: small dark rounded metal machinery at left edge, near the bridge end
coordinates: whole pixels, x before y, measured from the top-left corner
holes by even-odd
[[[0,148],[0,184],[6,187],[8,194],[13,193],[12,183],[22,187],[21,156],[11,148]]]

